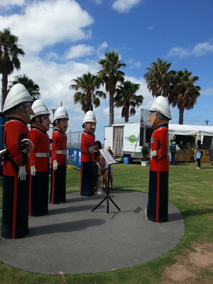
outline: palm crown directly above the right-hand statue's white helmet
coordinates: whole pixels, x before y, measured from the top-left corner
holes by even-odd
[[[146,68],[148,72],[144,75],[148,90],[153,97],[168,97],[170,93],[170,85],[175,75],[174,70],[170,70],[172,63],[157,59],[151,64],[150,68]]]

